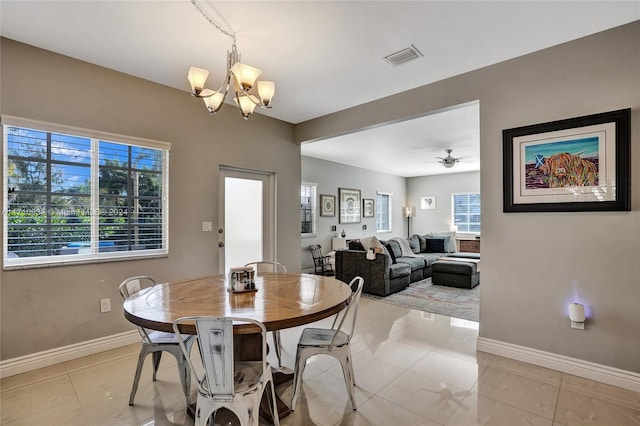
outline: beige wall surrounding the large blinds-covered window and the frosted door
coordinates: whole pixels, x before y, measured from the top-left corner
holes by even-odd
[[[118,284],[150,274],[172,280],[218,271],[220,164],[275,172],[277,253],[300,267],[300,147],[293,126],[225,106],[209,116],[202,101],[175,90],[68,57],[0,39],[0,113],[172,143],[170,255],[167,258],[0,273],[1,359],[131,330]],[[186,78],[185,78],[186,82]],[[99,313],[110,297],[111,313]]]

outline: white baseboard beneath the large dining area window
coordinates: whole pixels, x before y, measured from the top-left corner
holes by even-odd
[[[0,378],[15,376],[16,374],[26,373],[27,371],[49,367],[50,365],[139,342],[140,334],[138,334],[137,330],[133,330],[63,346],[61,348],[24,355],[18,358],[7,359],[0,361]]]

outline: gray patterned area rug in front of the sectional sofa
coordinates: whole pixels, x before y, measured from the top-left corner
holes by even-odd
[[[381,302],[447,315],[469,321],[479,320],[480,286],[472,289],[431,284],[431,278],[411,283],[409,287],[387,297],[362,293],[363,297]]]

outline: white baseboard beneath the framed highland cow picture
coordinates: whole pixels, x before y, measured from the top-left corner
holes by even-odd
[[[476,349],[493,355],[550,368],[596,382],[640,392],[640,374],[633,371],[596,364],[577,358],[570,358],[551,352],[531,349],[498,340],[478,337]]]

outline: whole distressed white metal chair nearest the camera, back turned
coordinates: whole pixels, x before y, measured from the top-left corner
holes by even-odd
[[[233,322],[252,323],[262,336],[262,357],[259,361],[234,360]],[[267,329],[264,324],[250,318],[231,317],[183,317],[173,323],[173,330],[180,333],[180,326],[195,323],[198,347],[202,357],[204,372],[198,380],[195,426],[215,422],[220,408],[231,411],[241,426],[257,426],[259,423],[260,400],[267,390],[271,415],[276,426],[280,425],[276,404],[275,386],[271,367],[266,361]],[[184,343],[180,347],[187,356],[192,371],[197,371],[188,357]],[[213,417],[211,419],[211,417]]]

